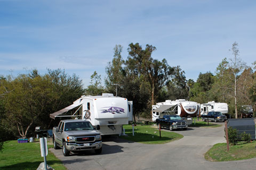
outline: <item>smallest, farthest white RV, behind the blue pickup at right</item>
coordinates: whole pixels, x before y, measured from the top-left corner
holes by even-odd
[[[215,103],[215,101],[209,101],[208,103],[201,104],[200,115],[207,115],[208,112],[221,112],[222,114],[227,114],[228,104]]]

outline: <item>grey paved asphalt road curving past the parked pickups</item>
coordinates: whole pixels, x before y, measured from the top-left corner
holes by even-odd
[[[184,138],[164,145],[145,145],[118,138],[103,142],[102,154],[93,151],[68,157],[51,149],[68,169],[256,169],[256,158],[233,162],[208,162],[204,154],[215,143],[226,142],[224,124],[219,128],[175,131]]]

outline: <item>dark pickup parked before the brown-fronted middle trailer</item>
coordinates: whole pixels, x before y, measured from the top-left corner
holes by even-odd
[[[187,130],[188,128],[187,122],[182,120],[182,118],[179,115],[164,115],[163,118],[157,118],[156,123],[158,129],[165,127],[170,129],[170,131],[174,129]]]

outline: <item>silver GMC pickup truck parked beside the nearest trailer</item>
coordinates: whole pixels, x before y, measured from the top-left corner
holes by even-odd
[[[94,150],[96,154],[100,154],[102,141],[101,135],[97,131],[99,129],[99,125],[94,128],[89,121],[62,120],[58,127],[54,127],[52,130],[54,149],[62,148],[64,156],[68,156],[70,151],[84,150]]]

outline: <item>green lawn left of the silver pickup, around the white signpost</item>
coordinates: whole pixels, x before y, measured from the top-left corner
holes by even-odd
[[[48,145],[48,149],[53,145]],[[50,151],[46,157],[47,164],[55,170],[67,169],[61,161]],[[40,163],[44,162],[41,157],[40,143],[18,143],[15,141],[4,142],[3,153],[0,152],[0,169],[37,169]]]

